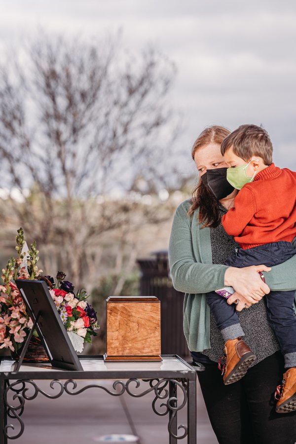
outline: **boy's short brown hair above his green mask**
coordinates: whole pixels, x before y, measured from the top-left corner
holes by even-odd
[[[222,156],[232,147],[235,155],[248,162],[252,156],[262,157],[265,165],[272,163],[272,143],[264,128],[257,125],[241,125],[221,144]]]

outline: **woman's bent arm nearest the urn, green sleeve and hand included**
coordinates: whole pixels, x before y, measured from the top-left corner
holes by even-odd
[[[200,246],[201,250],[203,248],[211,247]],[[229,285],[236,290],[239,289],[241,295],[249,298],[249,304],[258,301],[264,293],[269,293],[269,288],[257,272],[268,270],[265,265],[261,268],[255,266],[234,268],[196,262],[192,248],[191,222],[187,217],[185,204],[177,208],[174,217],[169,243],[169,262],[173,285],[180,292],[208,293]],[[259,296],[256,296],[257,294]]]

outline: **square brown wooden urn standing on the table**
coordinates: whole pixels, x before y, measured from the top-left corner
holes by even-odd
[[[105,361],[162,361],[157,297],[109,296],[106,309]]]

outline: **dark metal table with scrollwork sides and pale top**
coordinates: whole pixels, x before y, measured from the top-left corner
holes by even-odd
[[[188,444],[196,444],[196,370],[177,355],[162,355],[162,362],[104,362],[103,356],[79,356],[83,371],[60,370],[44,364],[23,364],[18,372],[14,361],[0,358],[1,427],[0,444],[7,439],[17,440],[24,432],[22,414],[26,401],[38,394],[50,399],[64,392],[79,395],[85,390],[103,389],[111,396],[127,392],[138,398],[154,392],[153,411],[160,416],[168,414],[169,443],[187,437]],[[51,393],[38,387],[38,380],[49,380]],[[90,384],[77,389],[76,380],[86,379]],[[99,380],[114,380],[112,390],[100,385]],[[143,391],[140,380],[146,384]],[[139,393],[138,388],[142,391]],[[177,390],[179,388],[179,390]],[[180,396],[181,395],[181,396]],[[187,405],[187,424],[178,426],[177,414]],[[17,426],[17,427],[15,427]]]

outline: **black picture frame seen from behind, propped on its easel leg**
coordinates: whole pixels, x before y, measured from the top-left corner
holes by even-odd
[[[27,279],[17,279],[15,283],[51,365],[65,370],[83,370],[46,283]]]

